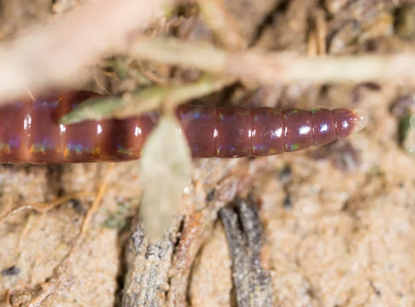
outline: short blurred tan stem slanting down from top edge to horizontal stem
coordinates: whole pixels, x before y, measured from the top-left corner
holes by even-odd
[[[248,44],[241,36],[237,21],[226,11],[223,0],[197,0],[196,3],[221,46],[230,50],[246,48]]]

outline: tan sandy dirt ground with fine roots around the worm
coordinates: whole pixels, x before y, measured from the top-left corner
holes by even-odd
[[[0,34],[12,39],[83,2],[2,0]],[[224,2],[255,48],[311,57],[415,49],[415,1]],[[185,8],[182,17],[172,17],[170,28],[154,31],[213,41],[195,14],[194,8]],[[109,72],[114,63],[118,71]],[[101,68],[86,89],[117,94],[146,82],[198,76],[192,70],[172,72],[125,58],[111,59]],[[415,160],[400,144],[402,123],[415,106],[413,86],[367,82],[258,89],[236,84],[198,101],[216,106],[359,107],[369,112],[370,121],[347,140],[306,151],[194,160],[185,220],[174,221],[157,243],[148,243],[134,221],[141,195],[136,161],[112,169],[98,214],[71,261],[64,259],[93,198],[74,196],[48,212],[29,210],[8,218],[0,223],[1,306],[236,306],[239,286],[232,274],[239,271],[232,266],[224,223],[230,220],[218,212],[237,196],[248,199],[248,194],[259,206],[260,271],[266,276],[264,288],[254,292],[269,295],[266,304],[415,305]],[[3,165],[0,214],[16,205],[95,192],[109,167]]]

